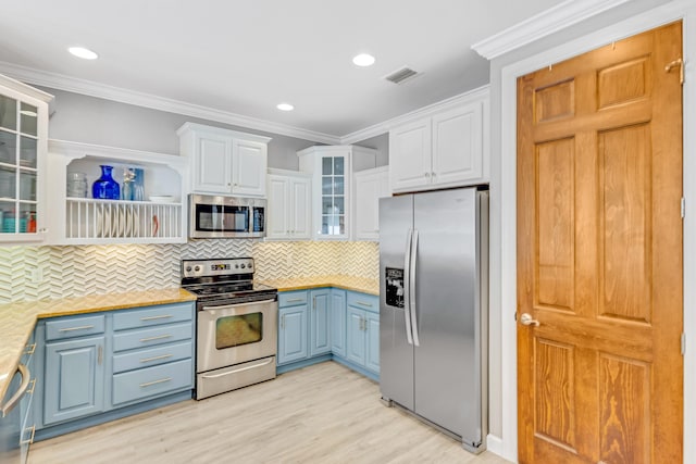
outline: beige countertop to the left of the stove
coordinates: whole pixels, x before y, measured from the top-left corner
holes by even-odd
[[[179,288],[0,304],[0,402],[39,318],[195,301]]]

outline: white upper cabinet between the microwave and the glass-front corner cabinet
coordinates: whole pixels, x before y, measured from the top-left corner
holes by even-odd
[[[266,240],[312,238],[312,176],[269,170]]]

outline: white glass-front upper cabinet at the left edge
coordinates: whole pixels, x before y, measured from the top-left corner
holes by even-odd
[[[0,75],[0,242],[42,240],[42,178],[52,97]]]

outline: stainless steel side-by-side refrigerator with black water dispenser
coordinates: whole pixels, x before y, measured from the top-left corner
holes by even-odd
[[[488,196],[380,200],[380,389],[474,453],[487,434]]]

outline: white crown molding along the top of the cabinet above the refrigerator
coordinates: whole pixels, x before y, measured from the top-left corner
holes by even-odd
[[[352,145],[352,143],[369,139],[371,137],[376,137],[382,134],[386,134],[389,130],[391,130],[393,127],[400,126],[401,124],[405,124],[414,120],[428,117],[435,113],[447,111],[453,108],[464,105],[467,103],[471,103],[473,101],[487,98],[489,93],[490,93],[490,86],[485,85],[476,89],[456,95],[455,97],[450,97],[448,99],[435,102],[433,104],[428,104],[427,106],[419,108],[418,110],[411,111],[406,114],[401,114],[400,116],[393,117],[391,120],[387,120],[382,123],[375,124],[373,126],[365,127],[364,129],[356,130],[355,133],[343,136],[340,138],[340,145]]]

